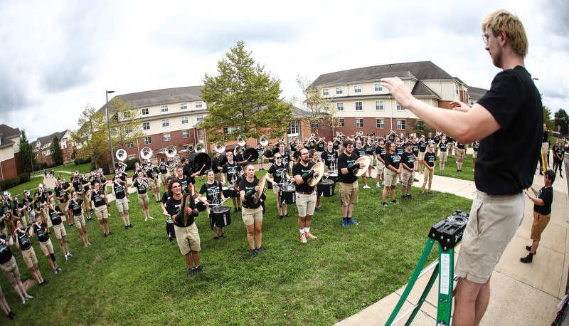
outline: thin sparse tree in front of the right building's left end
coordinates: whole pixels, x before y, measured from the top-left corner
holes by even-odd
[[[302,98],[295,96],[292,102],[303,111],[302,120],[310,122],[311,133],[319,137],[318,127],[333,127],[338,109],[332,103],[333,98],[322,93],[321,85],[314,87],[307,77],[300,75],[296,81],[302,91]]]

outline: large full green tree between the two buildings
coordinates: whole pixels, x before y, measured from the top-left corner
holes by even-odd
[[[210,113],[202,126],[213,142],[235,140],[238,135],[281,137],[288,127],[283,121],[292,115],[291,105],[280,98],[280,80],[265,73],[244,47],[239,41],[218,61],[219,75],[206,73],[203,78],[201,97]],[[224,133],[224,127],[234,129]]]

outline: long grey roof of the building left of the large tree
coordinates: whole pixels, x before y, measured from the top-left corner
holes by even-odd
[[[201,86],[188,86],[179,88],[164,88],[163,90],[147,90],[139,93],[117,95],[115,98],[123,102],[130,102],[133,108],[148,107],[152,105],[166,105],[169,103],[191,102],[201,100]],[[106,103],[99,111],[105,111]]]

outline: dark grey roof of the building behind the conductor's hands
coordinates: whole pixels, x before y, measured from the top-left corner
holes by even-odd
[[[414,78],[418,80],[454,79],[445,70],[430,61],[410,63],[391,63],[373,67],[356,68],[319,75],[312,85],[337,85],[342,83],[379,80],[380,78],[398,76],[399,78]]]

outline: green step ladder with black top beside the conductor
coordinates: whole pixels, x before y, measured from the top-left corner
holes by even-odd
[[[447,219],[444,219],[431,227],[425,250],[422,251],[417,267],[415,267],[413,275],[411,275],[411,279],[409,280],[407,287],[405,287],[405,291],[403,291],[403,295],[401,295],[395,309],[391,312],[387,322],[385,322],[386,326],[395,324],[411,313],[409,319],[405,323],[405,325],[410,325],[411,322],[413,322],[415,315],[417,315],[417,312],[419,312],[422,303],[425,302],[432,285],[437,279],[437,276],[439,278],[437,326],[450,325],[450,316],[452,313],[452,291],[454,289],[454,247],[462,240],[462,233],[464,232],[464,228],[466,228],[468,218],[468,213],[457,210],[451,216],[447,217]],[[439,243],[439,258],[428,265],[427,268],[421,270],[427,261],[429,253],[432,250],[432,246],[435,245],[435,241]],[[401,307],[403,307],[403,303],[407,300],[417,279],[428,273],[428,271],[434,267],[437,267],[437,269],[432,271],[427,287],[422,292],[419,302],[395,320],[395,317],[397,317]]]

